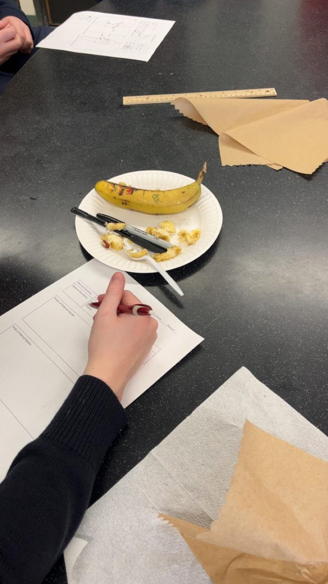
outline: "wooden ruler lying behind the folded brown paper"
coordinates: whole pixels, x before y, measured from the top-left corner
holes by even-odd
[[[197,91],[196,93],[160,93],[159,95],[129,95],[124,106],[142,103],[170,103],[176,98],[270,98],[277,95],[273,87],[264,89],[232,89],[231,91]]]

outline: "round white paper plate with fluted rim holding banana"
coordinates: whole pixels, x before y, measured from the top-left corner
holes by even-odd
[[[179,175],[175,172],[137,171],[114,176],[109,180],[116,183],[122,181],[127,183],[127,185],[142,187],[143,189],[164,190],[189,185],[195,179]],[[182,252],[176,258],[161,262],[165,270],[173,270],[175,267],[184,266],[186,263],[199,258],[199,256],[214,244],[222,227],[221,207],[217,199],[215,199],[214,194],[204,185],[201,185],[201,196],[197,203],[193,204],[186,211],[173,215],[148,215],[139,213],[138,211],[130,211],[107,203],[107,201],[104,201],[96,193],[95,189],[84,197],[79,208],[92,215],[96,215],[97,213],[111,215],[120,221],[124,221],[143,230],[149,226],[158,226],[161,221],[167,219],[173,221],[177,231],[181,229],[190,231],[199,228],[201,230],[201,237],[195,245],[179,244],[182,247]],[[100,243],[100,235],[104,233],[104,228],[101,225],[96,225],[76,215],[75,228],[83,248],[93,258],[106,263],[107,266],[124,270],[125,272],[156,272],[156,269],[146,261],[135,262],[128,258],[124,251],[117,252],[113,249],[104,248]],[[170,241],[173,244],[179,243],[179,238],[177,235],[173,235]]]

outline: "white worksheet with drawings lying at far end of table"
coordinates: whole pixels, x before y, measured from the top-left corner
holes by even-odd
[[[37,46],[149,61],[174,23],[174,20],[76,12]]]

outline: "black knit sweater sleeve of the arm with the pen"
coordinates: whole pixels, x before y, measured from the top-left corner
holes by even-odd
[[[0,582],[38,584],[88,507],[100,463],[126,423],[103,381],[82,376],[0,484]]]

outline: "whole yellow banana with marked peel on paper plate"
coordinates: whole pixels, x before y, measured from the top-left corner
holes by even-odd
[[[170,190],[144,190],[99,180],[95,189],[103,199],[132,211],[141,211],[151,215],[181,213],[196,203],[201,194],[201,182],[206,172],[206,162],[195,182]]]

